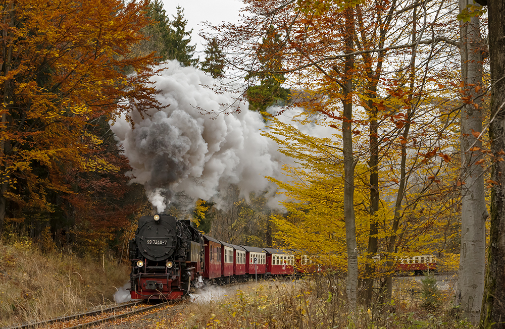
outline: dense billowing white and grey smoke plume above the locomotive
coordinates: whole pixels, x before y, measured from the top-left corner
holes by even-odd
[[[124,118],[112,126],[134,181],[145,186],[158,212],[164,212],[177,192],[219,200],[220,188],[229,184],[236,184],[244,196],[274,191],[265,177],[279,177],[282,155],[275,142],[261,135],[261,115],[248,111],[247,103],[237,102],[233,94],[206,87],[218,82],[202,71],[176,61],[163,69],[153,82],[158,100],[169,106],[148,110],[144,119],[132,111],[133,130]],[[238,105],[240,112],[233,111]],[[223,111],[233,113],[201,114]]]

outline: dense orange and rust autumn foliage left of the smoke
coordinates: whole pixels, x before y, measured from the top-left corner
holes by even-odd
[[[110,198],[130,189],[129,167],[107,122],[132,102],[139,111],[159,106],[148,83],[154,54],[131,51],[144,39],[145,8],[120,0],[0,3],[0,232],[36,236],[51,226],[54,236],[80,230],[110,241],[126,221],[131,209],[111,212],[119,204]]]

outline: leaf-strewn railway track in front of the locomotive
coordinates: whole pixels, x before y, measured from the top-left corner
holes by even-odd
[[[145,306],[145,304],[142,304],[142,302],[131,302],[109,307],[106,309],[68,315],[46,321],[10,326],[4,329],[51,329],[53,327],[58,329],[80,329],[111,320],[129,317],[131,315],[142,313],[151,309],[161,308],[168,303],[169,302],[163,302],[155,305]]]

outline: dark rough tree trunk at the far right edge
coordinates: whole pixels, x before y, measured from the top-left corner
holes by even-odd
[[[487,0],[489,58],[491,63],[491,111],[489,127],[492,164],[491,233],[482,303],[481,327],[505,328],[505,2]],[[494,118],[494,119],[493,119]]]

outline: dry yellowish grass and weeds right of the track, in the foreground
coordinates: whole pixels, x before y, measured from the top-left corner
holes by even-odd
[[[388,305],[360,307],[350,315],[342,282],[321,277],[267,281],[190,305],[180,328],[471,328],[452,309],[450,292],[440,291],[438,308],[428,310],[422,306],[422,284],[400,284]]]

